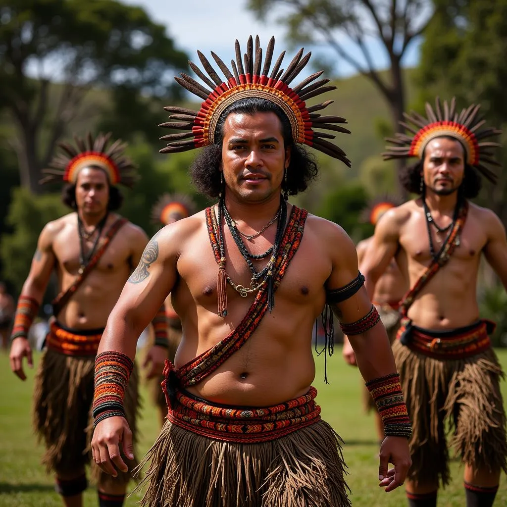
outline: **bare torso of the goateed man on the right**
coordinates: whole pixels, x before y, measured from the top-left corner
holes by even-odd
[[[407,220],[400,230],[396,260],[406,270],[412,287],[431,262],[426,221],[420,200],[403,205]],[[447,262],[422,289],[408,316],[426,329],[454,329],[479,318],[476,283],[481,252],[487,243],[481,210],[469,203],[466,223],[457,246]],[[432,229],[434,248],[440,244]],[[445,235],[441,235],[444,236]]]

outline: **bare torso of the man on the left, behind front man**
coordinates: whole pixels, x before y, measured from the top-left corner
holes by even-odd
[[[111,213],[102,231],[97,248],[102,244],[107,230],[118,215]],[[55,221],[57,233],[52,248],[57,259],[58,291],[65,291],[78,277],[80,268],[80,239],[76,213],[70,213]],[[130,223],[122,226],[111,240],[104,255],[85,281],[56,315],[59,322],[73,329],[97,329],[105,327],[107,317],[132,272],[131,232],[137,229]],[[88,251],[92,243],[87,243]]]

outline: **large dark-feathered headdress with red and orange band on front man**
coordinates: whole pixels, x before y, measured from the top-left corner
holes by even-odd
[[[336,86],[324,86],[329,83],[329,79],[318,80],[323,73],[321,70],[298,85],[289,87],[289,84],[296,79],[308,63],[311,53],[303,56],[303,49],[301,49],[284,71],[280,68],[285,55],[285,51],[283,51],[270,71],[274,45],[275,39],[272,37],[266,48],[263,65],[263,50],[260,47],[259,37],[256,37],[254,49],[250,35],[243,57],[241,57],[239,42],[236,41],[236,61],[231,60],[231,69],[215,53],[211,52],[213,60],[224,74],[225,81],[216,73],[207,58],[198,51],[197,54],[204,71],[193,62],[189,62],[189,64],[206,86],[186,74],[175,79],[181,86],[202,98],[204,102],[202,102],[199,111],[183,107],[164,107],[166,111],[172,113],[169,119],[176,121],[162,123],[160,126],[186,132],[163,136],[161,139],[170,142],[166,148],[160,150],[160,153],[184,152],[213,144],[216,125],[226,108],[242,98],[259,97],[277,104],[282,109],[291,123],[294,142],[307,144],[307,146],[341,160],[350,167],[350,161],[345,152],[326,140],[334,139],[335,135],[319,131],[324,129],[350,133],[349,130],[338,125],[347,123],[345,118],[321,116],[317,113],[330,105],[333,100],[311,107],[307,107],[305,102],[312,97],[336,89]]]

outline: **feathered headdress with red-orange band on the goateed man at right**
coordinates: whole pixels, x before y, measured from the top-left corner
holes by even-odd
[[[443,107],[440,98],[436,99],[433,108],[426,102],[427,118],[411,112],[404,113],[407,122],[400,122],[412,135],[396,133],[394,138],[387,138],[397,146],[387,147],[383,153],[384,160],[395,158],[418,157],[422,158],[427,143],[435,137],[450,136],[463,144],[466,152],[466,163],[475,167],[481,174],[496,183],[497,175],[485,164],[499,166],[493,158],[492,148],[500,146],[497,142],[485,141],[489,137],[498,136],[501,130],[486,127],[485,120],[478,117],[480,104],[472,104],[458,114],[455,98],[448,104],[444,100]]]

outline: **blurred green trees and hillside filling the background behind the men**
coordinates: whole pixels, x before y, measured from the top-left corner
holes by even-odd
[[[329,114],[347,118],[353,132],[337,139],[352,168],[318,156],[317,181],[294,199],[341,225],[354,241],[373,233],[358,220],[371,198],[404,196],[400,164],[380,156],[383,138],[399,129],[401,111],[422,113],[426,100],[454,95],[461,107],[480,102],[488,121],[507,130],[507,0],[270,3],[286,9],[280,23],[295,45],[326,45],[338,62],[355,63],[356,76],[334,80],[337,90],[329,93],[334,103],[328,108]],[[267,12],[266,0],[247,4],[260,18]],[[361,35],[366,32],[385,51],[385,70],[368,59]],[[347,52],[343,38],[357,51]],[[414,41],[420,44],[419,64],[404,68],[404,54]],[[141,7],[118,0],[0,0],[0,279],[15,296],[44,224],[69,211],[60,203],[58,186],[43,188],[38,181],[58,141],[74,132],[112,131],[129,142],[127,152],[141,178],[134,190],[122,190],[121,213],[149,235],[158,228],[150,212],[162,193],[184,192],[200,208],[208,204],[190,183],[195,153],[158,153],[164,146],[158,138],[167,133],[157,126],[167,118],[163,106],[198,107],[173,80],[187,71],[189,56],[195,57],[178,49],[178,41]],[[505,164],[507,148],[498,155]],[[476,200],[504,224],[506,191],[507,175],[499,171],[498,185],[485,182]],[[488,268],[481,269],[478,297],[484,316],[499,324],[495,340],[500,343],[507,335],[507,296]]]

